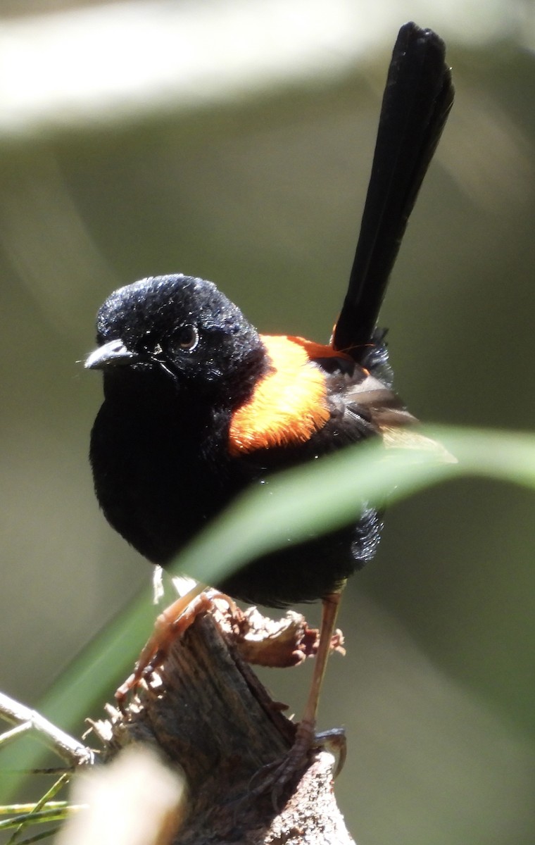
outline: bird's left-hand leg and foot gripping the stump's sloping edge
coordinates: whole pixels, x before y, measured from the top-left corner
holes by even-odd
[[[135,690],[139,681],[153,672],[165,660],[172,642],[184,634],[194,623],[199,613],[204,613],[214,607],[214,599],[223,598],[232,606],[234,602],[224,593],[216,590],[206,591],[205,586],[196,584],[184,596],[177,598],[157,617],[154,630],[145,643],[134,672],[115,693],[119,710],[124,711],[124,704],[128,693]]]

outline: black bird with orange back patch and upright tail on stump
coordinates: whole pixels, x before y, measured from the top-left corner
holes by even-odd
[[[110,524],[153,563],[166,566],[270,472],[363,439],[418,441],[414,417],[392,390],[376,321],[452,101],[444,43],[431,30],[404,25],[347,296],[329,344],[261,335],[215,285],[188,275],[135,282],[102,305],[98,348],[85,364],[104,374],[90,446],[96,495]],[[374,556],[379,531],[379,515],[368,508],[356,526],[288,544],[216,585],[273,607],[324,602],[301,750],[314,736],[341,589]]]

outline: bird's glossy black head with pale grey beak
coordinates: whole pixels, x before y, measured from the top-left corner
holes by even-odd
[[[214,284],[158,275],[113,292],[96,320],[98,347],[85,362],[109,384],[232,395],[240,402],[265,371],[254,327]],[[146,380],[146,379],[145,379]]]

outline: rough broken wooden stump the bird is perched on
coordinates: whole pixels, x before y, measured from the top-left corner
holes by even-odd
[[[287,755],[295,725],[240,654],[247,651],[250,657],[250,644],[261,640],[258,634],[266,620],[249,617],[249,635],[244,635],[243,619],[236,608],[225,613],[215,609],[195,619],[172,644],[150,684],[140,684],[125,715],[108,708],[110,718],[95,723],[106,756],[132,742],[146,742],[183,769],[188,816],[173,845],[350,845],[332,791],[333,758],[325,750],[311,755],[305,771],[285,786],[280,812],[271,789],[261,789],[264,767]],[[299,651],[300,637],[303,653],[311,650],[313,632],[300,619],[303,624],[295,625],[289,640],[287,619],[282,620],[281,636],[287,644],[281,662],[285,654]],[[272,660],[276,634],[272,625],[267,629]],[[340,638],[334,645],[340,646]]]

